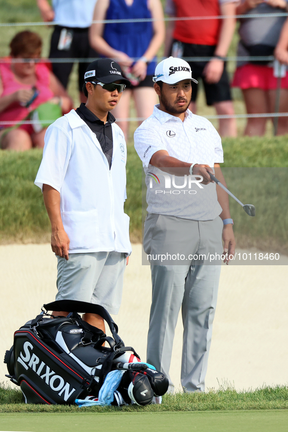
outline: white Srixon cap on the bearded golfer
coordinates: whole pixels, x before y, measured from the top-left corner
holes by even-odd
[[[192,78],[191,67],[187,61],[176,57],[169,57],[169,59],[160,61],[156,66],[153,77],[154,82],[163,81],[166,84],[175,84],[183,81],[183,79],[191,79],[198,84],[198,81]]]

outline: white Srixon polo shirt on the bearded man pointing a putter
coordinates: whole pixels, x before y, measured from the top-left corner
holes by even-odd
[[[191,184],[189,188],[187,179],[187,187],[173,188],[171,181],[173,190],[169,190],[163,172],[149,162],[154,153],[166,150],[169,156],[183,162],[214,167],[214,163],[224,161],[218,132],[207,118],[196,116],[190,110],[182,121],[159,110],[158,106],[154,106],[152,116],[134,134],[134,146],[146,175],[148,213],[193,220],[215,219],[222,212],[215,183],[201,185],[202,188]],[[175,177],[174,184],[184,185],[183,177]]]

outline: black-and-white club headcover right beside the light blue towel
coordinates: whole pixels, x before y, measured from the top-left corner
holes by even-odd
[[[117,390],[126,403],[133,401],[135,404],[142,406],[150,404],[154,396],[147,376],[130,370],[123,374]]]

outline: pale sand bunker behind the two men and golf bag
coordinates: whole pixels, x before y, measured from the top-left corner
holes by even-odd
[[[288,383],[288,257],[279,266],[223,266],[206,377],[207,388],[231,383],[237,390]],[[49,244],[0,246],[2,363],[13,333],[55,300],[57,259]],[[113,316],[126,345],[146,359],[151,301],[150,267],[141,265],[141,245],[125,272],[120,312]],[[180,388],[182,322],[175,332],[171,377]]]

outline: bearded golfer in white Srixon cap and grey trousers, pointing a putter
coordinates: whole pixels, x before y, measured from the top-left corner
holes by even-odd
[[[143,246],[152,273],[147,362],[169,377],[174,330],[182,307],[181,384],[185,392],[205,389],[220,265],[206,262],[204,255],[215,259],[216,254],[233,255],[235,249],[228,195],[218,186],[216,189],[209,175],[216,167],[217,177],[225,184],[219,168],[223,162],[221,139],[207,119],[188,109],[192,80],[186,61],[173,57],[161,61],[154,76],[160,103],[134,134],[147,184]],[[166,182],[167,173],[174,176],[175,190]],[[181,186],[176,182],[180,176]],[[182,190],[184,178],[194,181],[192,189],[187,186]],[[167,261],[159,260],[166,252]],[[177,256],[181,257],[178,262],[174,260]],[[229,256],[224,262],[228,264]]]

